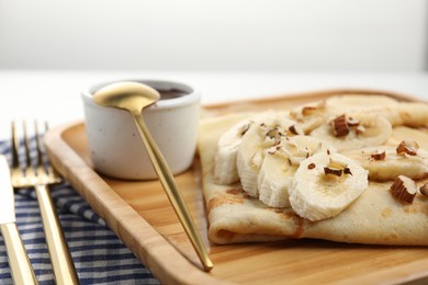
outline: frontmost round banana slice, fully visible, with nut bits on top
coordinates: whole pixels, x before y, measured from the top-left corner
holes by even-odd
[[[301,162],[289,200],[299,216],[320,220],[337,216],[368,185],[368,171],[353,160],[335,152],[319,152]]]

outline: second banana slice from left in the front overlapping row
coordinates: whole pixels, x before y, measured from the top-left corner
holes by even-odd
[[[243,185],[250,196],[259,195],[257,176],[264,159],[263,150],[280,142],[295,122],[282,113],[269,112],[245,133],[237,152],[237,170]]]

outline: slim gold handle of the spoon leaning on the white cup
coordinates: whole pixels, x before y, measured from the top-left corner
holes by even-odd
[[[153,139],[142,114],[133,113],[134,122],[137,126],[139,135],[143,139],[144,146],[146,147],[147,153],[150,158],[151,164],[159,176],[160,183],[167,196],[172,204],[173,209],[184,228],[185,233],[188,235],[194,250],[198,253],[199,259],[202,262],[202,265],[206,272],[210,272],[213,269],[213,263],[210,260],[210,256],[206,252],[205,246],[201,239],[201,236],[194,225],[192,216],[189,213],[189,209],[184,203],[184,200],[181,195],[180,190],[177,186],[174,178],[162,156],[159,148],[157,147],[155,140]]]

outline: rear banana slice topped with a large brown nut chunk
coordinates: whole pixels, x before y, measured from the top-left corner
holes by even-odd
[[[324,139],[338,151],[384,144],[392,134],[391,123],[378,114],[340,115],[314,129],[311,136]]]

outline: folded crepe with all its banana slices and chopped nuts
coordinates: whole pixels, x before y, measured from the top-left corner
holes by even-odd
[[[210,240],[428,246],[427,126],[426,103],[361,94],[204,119]]]

